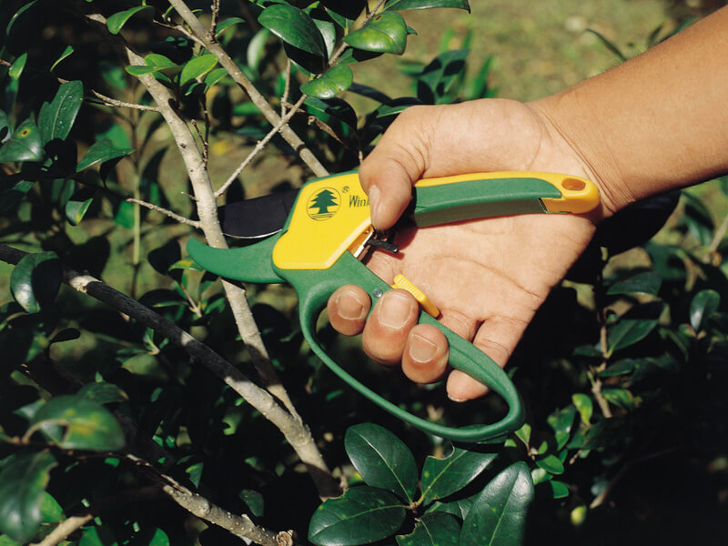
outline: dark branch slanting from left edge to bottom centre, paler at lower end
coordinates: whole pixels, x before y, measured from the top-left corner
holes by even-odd
[[[21,250],[0,244],[0,259],[7,263],[17,264],[25,255],[26,253]],[[173,322],[157,315],[136,299],[129,298],[126,294],[109,287],[97,278],[83,275],[73,269],[64,268],[63,279],[68,286],[77,291],[96,298],[139,323],[154,329],[184,349],[189,356],[197,359],[217,377],[223,379],[229,387],[283,433],[288,443],[298,453],[298,457],[306,464],[311,478],[319,489],[320,496],[330,497],[339,493],[339,484],[331,476],[326,462],[311,439],[309,430],[299,420],[292,419],[267,390],[260,389],[213,349],[193,338]]]

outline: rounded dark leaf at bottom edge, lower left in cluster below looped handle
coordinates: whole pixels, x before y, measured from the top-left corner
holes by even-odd
[[[308,524],[308,540],[319,546],[358,546],[385,539],[405,520],[401,501],[389,491],[353,487],[324,501]]]

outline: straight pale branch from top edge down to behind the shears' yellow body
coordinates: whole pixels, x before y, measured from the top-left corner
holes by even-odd
[[[233,78],[238,86],[240,86],[250,97],[252,103],[260,110],[260,112],[268,120],[268,123],[272,126],[278,126],[280,123],[280,116],[278,112],[268,104],[268,101],[264,96],[258,92],[255,86],[248,80],[248,78],[240,70],[239,66],[233,61],[230,56],[227,55],[225,49],[221,45],[217,44],[207,31],[205,25],[200,23],[197,16],[192,13],[192,10],[187,7],[187,4],[183,0],[169,0],[169,4],[172,5],[177,13],[185,20],[185,23],[192,30],[192,33],[205,44],[205,48],[211,54],[217,57],[217,62],[227,70],[227,74]],[[306,147],[303,140],[291,129],[288,125],[281,126],[280,135],[285,138],[286,142],[298,152],[298,156],[301,160],[311,169],[314,175],[317,177],[326,177],[329,175],[329,171],[321,165],[319,159],[313,155],[313,153]]]

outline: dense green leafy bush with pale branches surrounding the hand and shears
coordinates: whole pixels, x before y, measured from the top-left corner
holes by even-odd
[[[401,65],[414,96],[355,82],[351,66],[404,50],[401,11],[433,7],[469,6],[3,3],[0,543],[720,536],[725,181],[684,193],[657,239],[634,239],[630,214],[661,224],[669,198],[601,228],[511,360],[529,417],[504,444],[451,446],[363,404],[308,353],[289,288],[246,291],[184,255],[195,229],[227,244],[217,204],[356,167],[408,106],[492,96],[467,40]],[[320,335],[430,420],[503,410],[389,380]]]

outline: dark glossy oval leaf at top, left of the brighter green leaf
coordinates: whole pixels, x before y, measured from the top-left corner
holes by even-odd
[[[258,17],[265,26],[287,44],[312,55],[326,57],[324,38],[313,19],[298,7],[286,4],[269,5]]]

